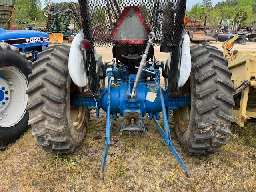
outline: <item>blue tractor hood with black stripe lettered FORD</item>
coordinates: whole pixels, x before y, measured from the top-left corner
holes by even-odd
[[[47,33],[35,30],[14,30],[8,31],[0,28],[0,42],[6,42],[18,48],[31,48],[50,44]]]

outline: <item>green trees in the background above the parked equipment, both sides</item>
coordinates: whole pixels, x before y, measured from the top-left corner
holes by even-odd
[[[42,12],[52,1],[44,0],[42,4],[40,0],[14,0],[15,19],[44,26],[46,18]],[[57,4],[61,5],[62,3]],[[251,26],[252,21],[256,20],[256,0],[224,0],[215,6],[212,6],[211,0],[202,0],[201,3],[195,3],[186,13],[191,16],[210,14],[221,19],[235,19],[235,22],[239,13],[242,13],[243,26]]]

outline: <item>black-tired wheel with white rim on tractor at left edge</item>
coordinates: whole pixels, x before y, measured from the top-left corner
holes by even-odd
[[[0,149],[28,130],[28,75],[32,62],[26,54],[0,43]]]

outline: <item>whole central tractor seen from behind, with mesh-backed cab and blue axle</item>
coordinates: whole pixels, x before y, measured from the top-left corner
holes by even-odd
[[[60,154],[75,151],[84,140],[90,109],[106,111],[104,168],[112,145],[113,122],[125,131],[148,133],[142,118],[154,120],[162,142],[190,172],[172,144],[168,125],[190,154],[221,150],[233,121],[231,72],[223,53],[212,46],[189,46],[184,30],[186,0],[80,1],[83,30],[71,47],[51,46],[38,54],[28,89],[29,124],[38,146]],[[103,15],[103,17],[102,17]],[[96,46],[112,46],[114,59],[102,63]],[[170,53],[154,57],[154,47]],[[165,79],[162,88],[160,79]],[[104,87],[105,80],[108,86]],[[164,127],[160,125],[162,112]]]

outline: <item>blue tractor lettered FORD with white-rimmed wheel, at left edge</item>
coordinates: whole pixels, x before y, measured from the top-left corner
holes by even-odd
[[[0,149],[28,130],[28,77],[49,43],[46,33],[0,28]]]

